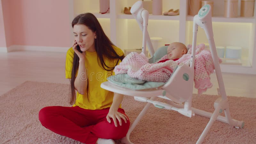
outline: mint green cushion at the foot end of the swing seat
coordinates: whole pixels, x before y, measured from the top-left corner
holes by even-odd
[[[112,82],[121,87],[125,87],[132,90],[152,89],[165,84],[162,82],[141,81],[141,80],[138,80],[137,78],[132,78],[127,74],[118,74],[114,76],[109,76],[107,79],[109,82]]]

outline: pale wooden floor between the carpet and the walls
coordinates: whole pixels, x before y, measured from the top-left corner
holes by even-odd
[[[25,81],[69,84],[65,79],[66,53],[17,51],[0,52],[0,95]],[[256,75],[223,73],[226,93],[229,96],[256,98]],[[205,94],[217,95],[218,81],[211,75],[213,86]],[[193,93],[197,93],[194,88]]]

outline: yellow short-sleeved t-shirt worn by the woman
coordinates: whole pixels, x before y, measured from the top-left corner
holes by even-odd
[[[119,56],[124,55],[124,52],[116,46],[113,46],[114,50]],[[71,47],[68,49],[66,56],[66,78],[71,78],[72,66],[73,66],[74,50]],[[109,108],[113,102],[114,93],[108,90],[102,89],[100,84],[107,81],[107,77],[114,75],[113,71],[107,71],[102,68],[96,52],[85,53],[85,68],[87,70],[88,77],[88,98],[87,93],[84,95],[76,93],[76,102],[73,105],[79,106],[84,109],[103,109]],[[113,67],[116,64],[116,60],[104,60],[108,67]],[[118,61],[118,64],[121,60]],[[119,106],[121,108],[121,105]]]

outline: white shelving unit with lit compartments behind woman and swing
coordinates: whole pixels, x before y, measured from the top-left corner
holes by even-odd
[[[131,7],[137,0],[110,0],[110,13],[100,14],[99,1],[70,0],[70,21],[85,12],[93,13],[100,21],[107,36],[121,49],[138,49],[142,45],[142,32],[132,15],[124,14],[124,7]],[[149,15],[148,33],[162,37],[163,44],[192,43],[193,16],[187,13],[188,0],[163,0],[163,12],[180,9],[180,15]],[[256,7],[256,5],[254,6]],[[225,18],[224,1],[214,0],[213,32],[216,46],[241,46],[242,65],[221,64],[222,72],[256,74],[256,11],[254,17]],[[198,29],[198,43],[208,43],[204,30]]]

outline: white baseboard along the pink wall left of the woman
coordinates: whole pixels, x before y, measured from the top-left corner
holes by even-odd
[[[12,45],[7,47],[7,50],[4,52],[12,52],[12,51],[67,52],[69,48],[70,47]]]

